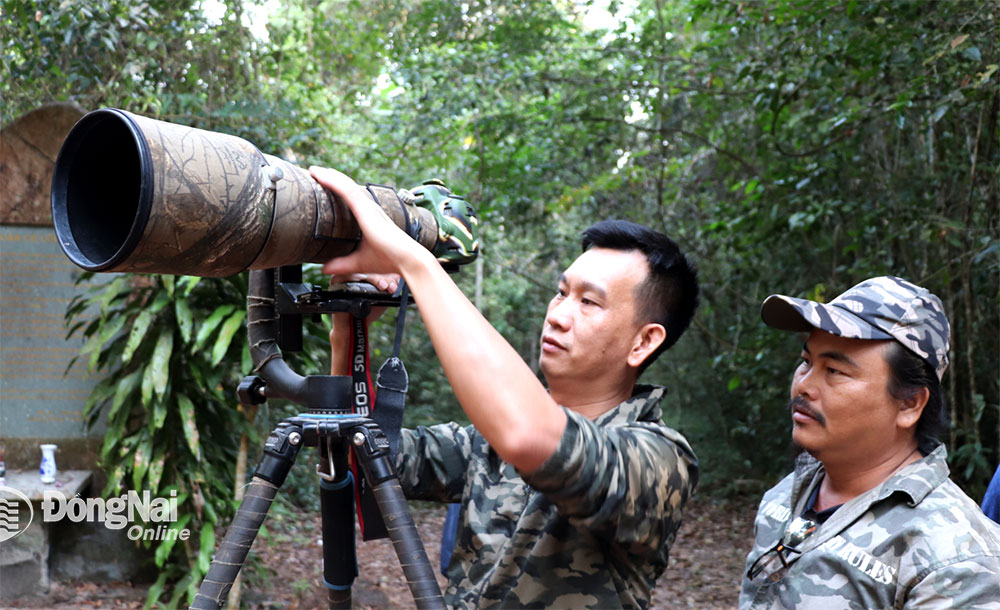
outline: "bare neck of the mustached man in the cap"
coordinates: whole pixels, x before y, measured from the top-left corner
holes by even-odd
[[[856,498],[881,485],[897,470],[916,462],[920,457],[917,442],[914,440],[867,462],[859,463],[854,456],[844,462],[821,460],[826,476],[820,483],[815,509],[826,510]]]

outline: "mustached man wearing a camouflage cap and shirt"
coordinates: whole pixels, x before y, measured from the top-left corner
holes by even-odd
[[[828,304],[772,295],[761,316],[808,334],[789,403],[804,452],[760,503],[740,608],[1000,608],[1000,526],[936,440],[941,301],[877,277]]]

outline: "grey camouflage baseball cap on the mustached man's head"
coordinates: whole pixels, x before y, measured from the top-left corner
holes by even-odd
[[[934,367],[948,368],[950,327],[941,299],[898,277],[873,277],[829,303],[772,294],[760,308],[764,323],[781,330],[813,328],[849,339],[895,339]]]

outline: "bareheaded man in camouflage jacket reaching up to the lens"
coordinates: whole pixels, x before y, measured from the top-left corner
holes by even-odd
[[[622,221],[585,232],[545,316],[546,389],[350,178],[320,168],[313,176],[347,202],[364,235],[324,271],[365,273],[389,291],[391,274],[406,280],[472,423],[404,430],[396,461],[408,497],[463,504],[446,601],[645,608],[698,472],[687,442],[660,421],[664,389],[636,386],[697,303],[695,272],[676,244]],[[334,374],[349,368],[338,361],[348,333],[335,318]]]

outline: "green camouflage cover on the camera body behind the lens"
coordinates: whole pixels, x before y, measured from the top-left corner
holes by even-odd
[[[428,180],[401,193],[404,198],[412,194],[414,205],[434,215],[438,237],[431,251],[439,261],[464,265],[479,256],[479,218],[469,202],[448,190],[440,180]]]

